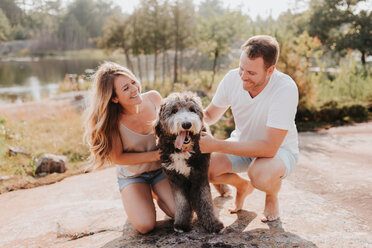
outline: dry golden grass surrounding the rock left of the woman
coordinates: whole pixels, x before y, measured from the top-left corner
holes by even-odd
[[[42,111],[39,108],[37,111]],[[35,113],[35,116],[40,116]],[[0,119],[0,193],[33,185],[52,183],[82,173],[89,150],[83,144],[82,116],[71,109],[29,120]],[[24,147],[29,156],[10,156],[9,146]],[[68,158],[67,173],[35,177],[36,162],[44,153]]]

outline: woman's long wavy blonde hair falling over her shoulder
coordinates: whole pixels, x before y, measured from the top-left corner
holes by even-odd
[[[114,140],[119,135],[120,114],[124,109],[120,103],[114,103],[116,97],[114,80],[123,75],[139,83],[139,80],[127,68],[113,62],[104,62],[96,73],[92,85],[90,103],[85,111],[84,140],[91,152],[91,162],[95,168],[110,161]]]

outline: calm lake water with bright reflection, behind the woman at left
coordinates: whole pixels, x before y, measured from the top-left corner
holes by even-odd
[[[0,105],[53,96],[66,74],[86,74],[101,62],[94,59],[0,61]]]

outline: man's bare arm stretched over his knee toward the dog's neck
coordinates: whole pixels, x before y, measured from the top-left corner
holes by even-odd
[[[200,150],[203,153],[221,152],[243,157],[272,158],[282,144],[288,130],[266,127],[263,140],[226,141],[203,133],[200,138]]]

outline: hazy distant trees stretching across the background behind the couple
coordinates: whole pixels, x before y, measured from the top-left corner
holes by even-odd
[[[334,66],[350,50],[365,65],[372,55],[372,12],[361,7],[367,1],[307,2],[302,12],[288,10],[277,19],[252,20],[241,10],[224,8],[219,0],[198,6],[192,0],[141,0],[130,14],[106,0],[72,0],[68,5],[62,0],[1,0],[0,46],[32,40],[37,51],[119,49],[131,69],[133,60],[141,67],[141,57],[147,64],[151,55],[153,68],[163,67],[163,73],[172,64],[175,82],[186,52],[208,57],[213,82],[218,59],[255,34],[278,39],[283,66],[288,67],[291,56],[311,63],[324,54],[333,57],[327,66]]]

